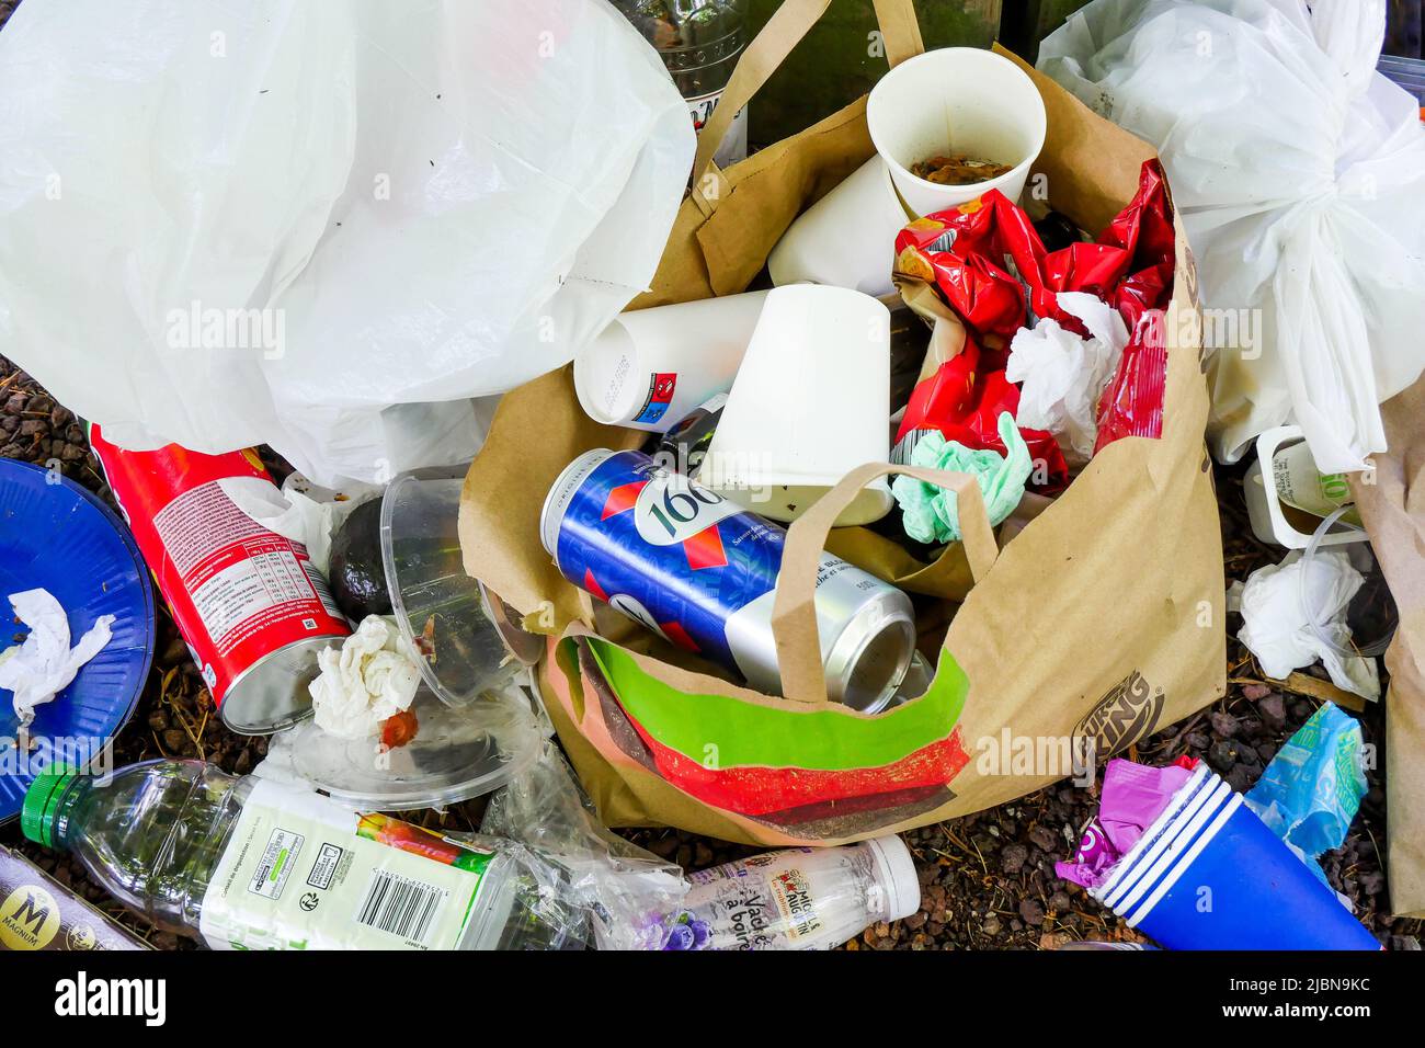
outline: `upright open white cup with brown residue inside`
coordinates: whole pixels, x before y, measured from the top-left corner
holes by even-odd
[[[866,124],[896,190],[918,215],[990,190],[1017,201],[1049,125],[1035,81],[1009,58],[978,47],[902,61],[872,88]],[[911,174],[912,165],[943,154],[1015,167],[973,185],[939,185]]]

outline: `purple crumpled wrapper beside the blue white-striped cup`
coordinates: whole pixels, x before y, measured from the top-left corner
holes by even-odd
[[[1146,767],[1110,760],[1099,817],[1084,827],[1073,860],[1054,863],[1054,873],[1086,888],[1099,887],[1191,776],[1193,769],[1180,764]]]

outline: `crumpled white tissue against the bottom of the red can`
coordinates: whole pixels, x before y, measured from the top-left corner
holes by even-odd
[[[308,684],[316,726],[338,739],[372,739],[382,721],[410,707],[420,670],[400,646],[400,633],[368,615],[341,649],[316,653],[321,674]]]

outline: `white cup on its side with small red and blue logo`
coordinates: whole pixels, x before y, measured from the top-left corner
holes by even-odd
[[[663,433],[732,388],[765,291],[618,314],[574,356],[574,392],[596,422]]]

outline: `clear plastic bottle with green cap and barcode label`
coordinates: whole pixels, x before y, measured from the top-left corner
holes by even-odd
[[[48,769],[21,828],[160,928],[219,950],[583,947],[580,923],[539,893],[519,846],[456,840],[197,760],[108,779]]]

